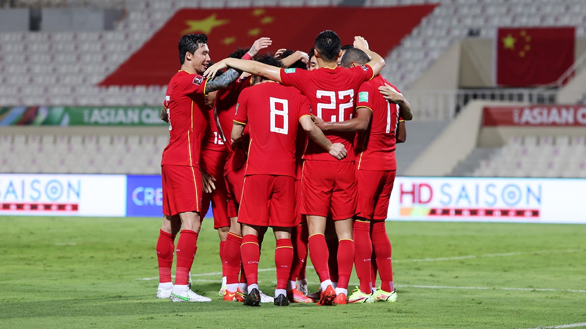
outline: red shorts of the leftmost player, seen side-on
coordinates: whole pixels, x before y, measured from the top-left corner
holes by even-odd
[[[202,208],[202,174],[190,166],[161,166],[163,214],[176,215]]]

